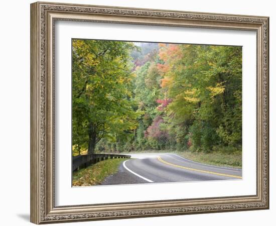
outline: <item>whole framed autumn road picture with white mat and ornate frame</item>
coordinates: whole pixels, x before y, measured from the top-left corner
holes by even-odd
[[[268,29],[31,4],[31,222],[269,208]]]

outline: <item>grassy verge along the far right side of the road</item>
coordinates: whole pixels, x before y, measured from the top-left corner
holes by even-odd
[[[232,167],[232,168],[239,168],[239,169],[241,169],[241,166],[242,166],[241,153],[229,153],[229,154],[225,154],[222,152],[204,153],[204,152],[191,152],[189,150],[186,150],[183,152],[170,151],[170,150],[144,150],[141,152],[131,152],[131,153],[132,154],[174,153],[195,162],[214,165],[214,166],[225,166],[225,167]],[[124,154],[130,154],[130,153],[124,153]]]

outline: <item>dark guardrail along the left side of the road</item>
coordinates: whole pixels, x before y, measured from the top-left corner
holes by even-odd
[[[99,161],[106,159],[120,159],[120,158],[130,158],[130,155],[116,155],[116,154],[88,154],[88,155],[78,155],[73,156],[72,160],[72,171],[79,170],[80,168],[85,168],[87,166],[93,165]]]

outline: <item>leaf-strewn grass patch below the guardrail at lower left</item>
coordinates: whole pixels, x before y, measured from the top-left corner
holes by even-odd
[[[73,186],[91,186],[100,184],[105,177],[118,171],[118,167],[125,159],[107,159],[97,162],[85,169],[73,172]]]

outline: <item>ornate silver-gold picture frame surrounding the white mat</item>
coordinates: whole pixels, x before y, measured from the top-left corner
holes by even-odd
[[[187,200],[54,205],[55,20],[101,21],[257,32],[257,194]],[[57,3],[31,4],[31,222],[53,223],[269,208],[268,17],[130,9]]]

